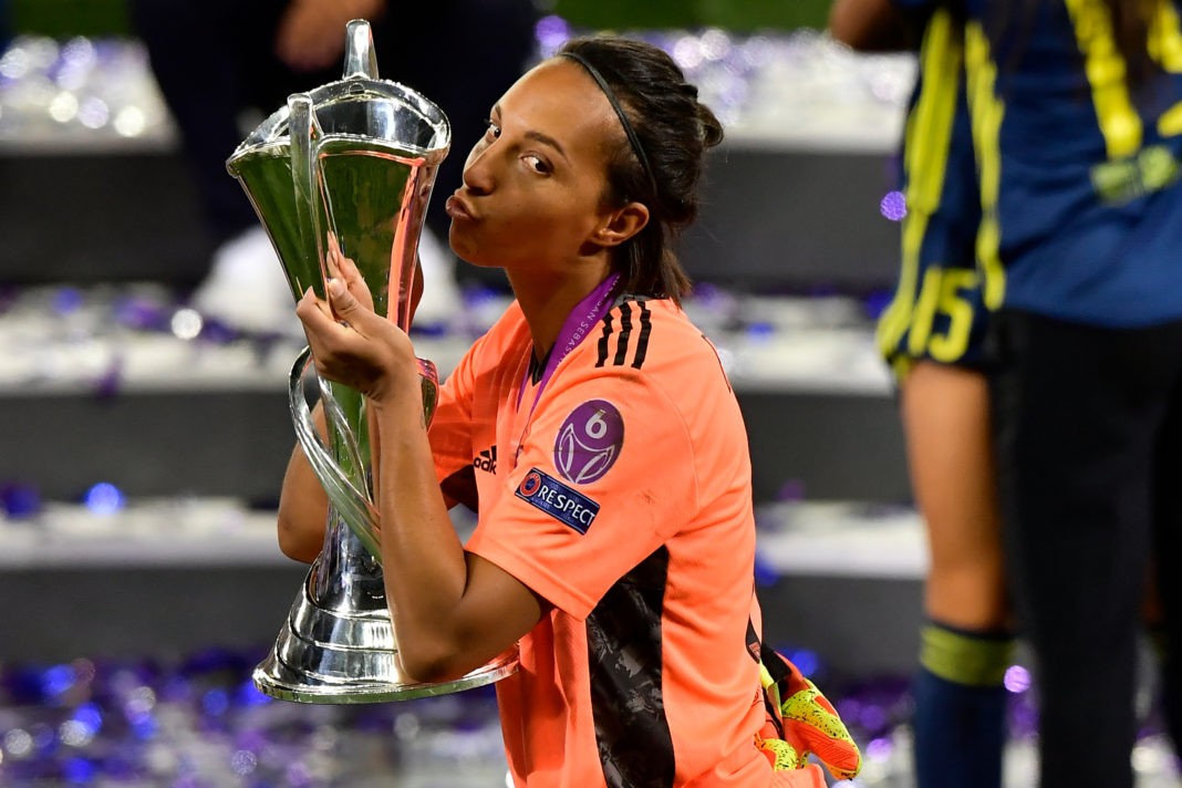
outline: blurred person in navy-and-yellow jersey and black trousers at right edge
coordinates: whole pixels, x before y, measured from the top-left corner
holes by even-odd
[[[966,19],[1004,554],[1035,660],[1040,784],[1128,788],[1147,577],[1182,736],[1178,7],[908,5]]]

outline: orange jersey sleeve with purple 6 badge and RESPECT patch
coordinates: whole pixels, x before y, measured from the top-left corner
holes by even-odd
[[[583,619],[696,512],[689,430],[642,373],[571,365],[522,432],[468,549]]]

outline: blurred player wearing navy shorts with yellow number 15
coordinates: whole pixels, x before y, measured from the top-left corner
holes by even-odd
[[[859,50],[918,41],[901,157],[902,268],[878,325],[928,538],[911,684],[916,784],[1000,788],[1014,638],[983,367],[988,314],[976,268],[981,201],[965,27],[946,7],[908,14],[891,0],[838,0],[830,30]]]

